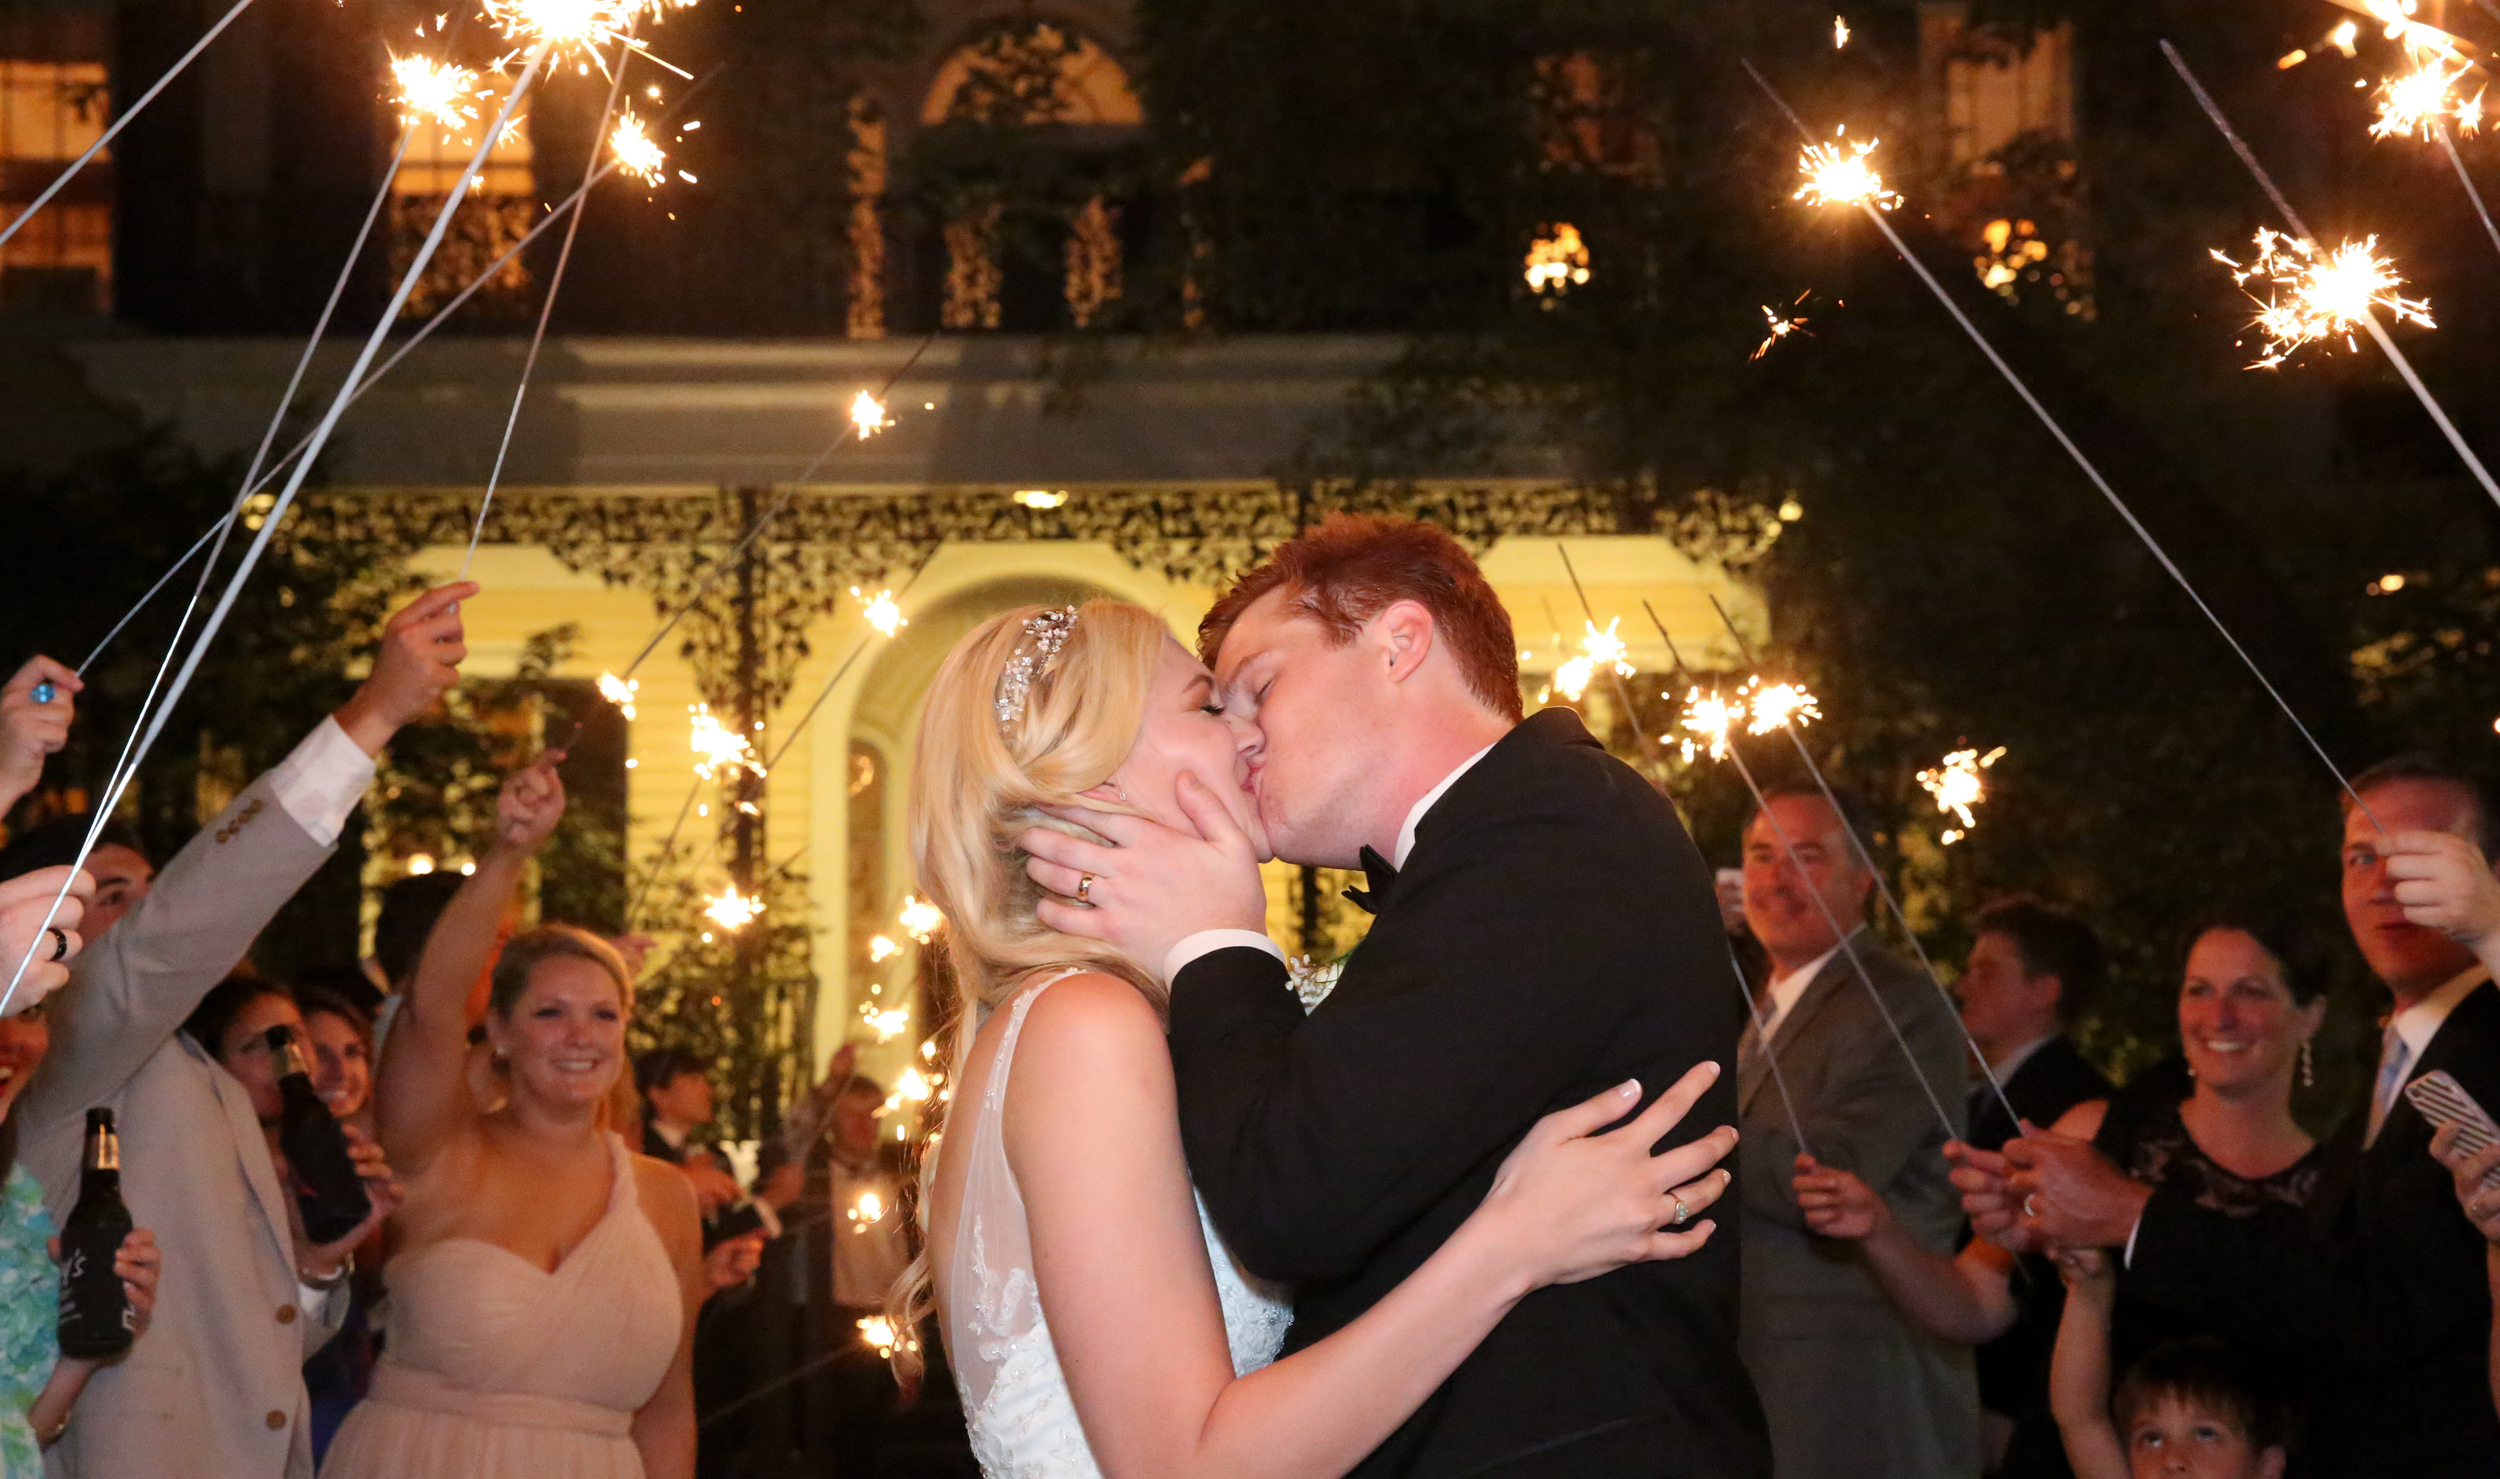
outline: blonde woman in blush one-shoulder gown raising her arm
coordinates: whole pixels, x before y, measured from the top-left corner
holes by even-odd
[[[695,1194],[605,1129],[632,982],[568,927],[505,944],[488,1004],[500,1104],[468,1082],[465,999],[565,809],[560,752],[505,782],[382,1044],[375,1117],[408,1202],[372,1394],[330,1447],[345,1479],[690,1479],[702,1302]]]

